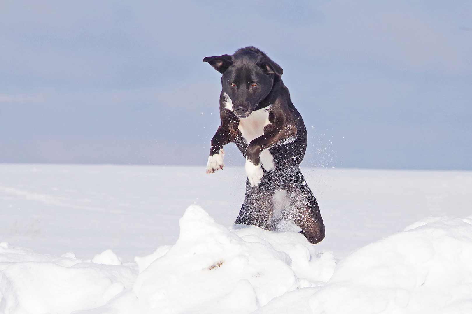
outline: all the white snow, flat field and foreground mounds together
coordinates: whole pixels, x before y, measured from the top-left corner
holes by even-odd
[[[472,313],[471,171],[302,169],[316,245],[204,172],[0,164],[0,313]]]

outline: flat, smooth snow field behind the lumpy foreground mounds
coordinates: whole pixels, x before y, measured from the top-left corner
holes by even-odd
[[[326,225],[317,250],[339,259],[423,217],[471,214],[472,171],[302,172]],[[0,242],[79,259],[111,249],[133,261],[174,244],[190,204],[231,226],[245,182],[243,167],[0,164]]]

